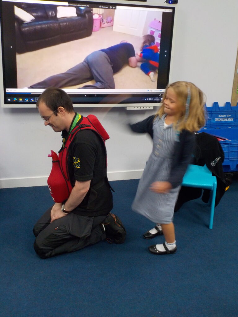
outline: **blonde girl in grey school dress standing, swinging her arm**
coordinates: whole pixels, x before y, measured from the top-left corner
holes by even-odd
[[[130,125],[134,132],[149,133],[153,150],[140,179],[132,209],[147,217],[155,228],[146,239],[163,234],[165,243],[149,247],[153,254],[177,250],[173,220],[182,178],[190,163],[195,133],[205,124],[204,95],[194,84],[177,81],[166,87],[155,115]]]

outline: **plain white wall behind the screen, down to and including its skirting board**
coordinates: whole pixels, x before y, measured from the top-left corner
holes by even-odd
[[[148,0],[163,4],[164,0]],[[137,3],[137,2],[132,2]],[[170,82],[192,81],[207,95],[207,106],[231,100],[237,53],[237,0],[179,0]],[[146,135],[132,134],[136,122],[154,111],[80,108],[95,114],[108,131],[109,179],[139,178],[151,150]],[[45,127],[36,109],[0,107],[0,188],[45,185],[50,150],[59,150],[60,133]]]

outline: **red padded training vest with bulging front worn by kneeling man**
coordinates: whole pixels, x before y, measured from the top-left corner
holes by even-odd
[[[69,145],[76,136],[77,132],[85,129],[95,131],[98,135],[100,135],[104,146],[105,141],[109,139],[108,133],[95,115],[89,114],[87,117],[82,116],[81,118],[82,120],[80,120],[76,127],[70,132],[63,149],[59,152],[59,157],[57,153],[52,150],[48,155],[49,157],[52,157],[52,169],[50,176],[48,177],[47,184],[50,190],[50,195],[56,203],[62,203],[63,201],[67,200],[72,191],[67,160],[69,155]],[[105,165],[107,166],[107,156]]]

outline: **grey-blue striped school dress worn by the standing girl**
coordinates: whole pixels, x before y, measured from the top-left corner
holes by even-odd
[[[157,194],[149,189],[155,181],[167,181],[175,146],[175,130],[172,125],[164,128],[165,116],[157,117],[153,123],[153,150],[139,181],[132,210],[147,217],[154,223],[170,223],[181,186],[166,194]]]

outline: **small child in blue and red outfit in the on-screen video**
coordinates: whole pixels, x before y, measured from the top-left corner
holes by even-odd
[[[141,53],[136,54],[137,61],[143,61],[141,70],[150,77],[151,81],[155,81],[155,71],[159,67],[159,49],[155,45],[155,37],[151,34],[143,36]]]

